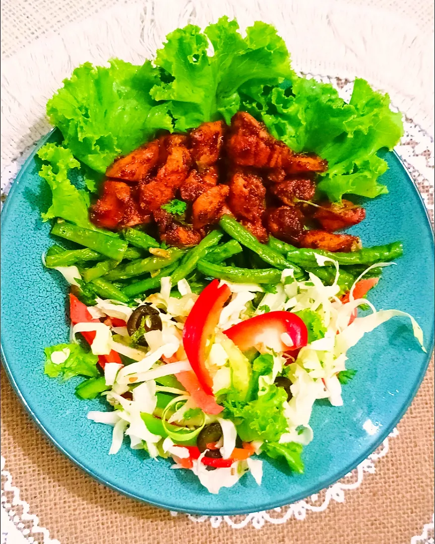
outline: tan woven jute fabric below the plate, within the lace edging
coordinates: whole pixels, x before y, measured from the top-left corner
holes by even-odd
[[[1,371],[1,432],[6,468],[62,544],[237,543],[408,544],[433,512],[433,358],[411,407],[390,438],[390,452],[343,504],[261,529],[212,528],[136,502],[97,484],[34,426]]]

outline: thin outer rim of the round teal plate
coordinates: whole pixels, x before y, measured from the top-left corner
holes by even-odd
[[[5,205],[3,206],[3,209],[2,209],[2,212],[1,212],[1,215],[0,215],[1,226],[3,226],[4,220],[5,220],[4,218],[7,215],[7,212],[8,212],[8,209],[9,209],[9,202],[11,202],[11,200],[13,199],[15,191],[16,191],[16,187],[19,186],[19,183],[21,181],[21,177],[27,171],[28,165],[33,161],[33,159],[34,159],[36,153],[38,152],[38,150],[40,149],[40,147],[42,145],[44,145],[46,143],[46,141],[49,140],[52,137],[52,135],[57,133],[57,132],[60,132],[59,129],[53,128],[50,132],[48,132],[45,136],[43,136],[38,141],[38,143],[36,143],[35,148],[32,150],[32,152],[29,154],[26,161],[21,166],[20,171],[16,175],[15,180],[13,181],[13,184],[12,184],[12,186],[10,188],[10,191],[8,193],[8,196],[7,196],[7,200],[5,202]],[[395,155],[396,159],[399,160],[399,163],[401,164],[403,170],[405,170],[406,175],[408,177],[408,180],[412,183],[413,189],[414,189],[416,195],[418,196],[419,206],[422,209],[422,211],[424,212],[426,222],[427,222],[427,225],[429,227],[429,231],[432,234],[432,242],[433,242],[433,240],[434,240],[434,229],[433,229],[433,226],[432,226],[432,223],[431,223],[427,208],[425,206],[424,200],[423,200],[423,198],[421,196],[421,193],[420,193],[418,187],[416,186],[416,183],[415,183],[413,177],[411,176],[411,173],[409,172],[407,166],[403,162],[400,155],[396,152],[395,149],[393,149],[392,152]],[[2,229],[1,236],[3,238],[3,229]],[[2,249],[2,254],[3,254],[3,249]],[[433,324],[432,324],[432,331],[434,329],[435,329],[435,318],[434,318]],[[138,500],[139,502],[142,502],[142,503],[150,504],[152,506],[157,506],[158,508],[162,508],[164,510],[176,510],[177,512],[184,513],[184,514],[207,515],[207,516],[223,516],[223,515],[234,516],[234,515],[243,515],[243,514],[251,514],[252,513],[250,511],[246,510],[246,508],[236,508],[236,509],[231,509],[231,510],[222,510],[222,509],[210,510],[210,509],[207,509],[207,508],[204,509],[204,510],[197,510],[197,509],[180,508],[178,505],[171,505],[171,504],[168,504],[168,502],[166,504],[164,504],[164,503],[161,503],[161,502],[158,502],[158,501],[155,501],[155,500],[145,499],[145,498],[140,497],[139,495],[137,495],[135,493],[131,493],[131,492],[128,492],[128,491],[126,491],[124,489],[121,489],[117,485],[115,485],[113,483],[110,483],[109,481],[105,480],[104,478],[99,477],[97,474],[95,474],[92,471],[91,468],[88,468],[81,461],[79,461],[78,459],[75,459],[75,457],[73,455],[68,453],[64,449],[62,444],[60,444],[56,440],[56,438],[54,438],[50,434],[50,431],[48,431],[45,428],[44,424],[40,421],[39,417],[30,408],[29,404],[27,403],[27,400],[24,398],[24,395],[21,393],[20,388],[17,385],[17,383],[15,381],[15,378],[14,378],[14,375],[11,372],[11,369],[9,367],[7,354],[5,352],[4,343],[3,343],[4,330],[2,330],[0,332],[0,334],[1,334],[0,351],[1,351],[1,355],[2,355],[3,367],[5,369],[5,372],[6,372],[7,376],[8,376],[8,379],[9,379],[11,385],[13,386],[13,389],[14,389],[15,393],[17,394],[18,398],[20,399],[20,401],[23,404],[26,411],[29,413],[30,418],[32,418],[32,420],[36,423],[38,428],[43,432],[43,434],[48,438],[48,440],[50,440],[50,442],[52,444],[54,444],[54,446],[56,446],[56,448],[58,450],[60,450],[60,452],[63,455],[65,455],[66,458],[68,458],[70,461],[72,461],[76,466],[78,466],[83,472],[88,474],[91,478],[93,478],[97,482],[105,485],[106,487],[109,487],[110,489],[112,489],[114,491],[117,491],[118,493],[120,493],[120,494],[122,494],[124,496],[132,498],[134,500]],[[379,435],[378,435],[377,441],[376,441],[376,447],[373,450],[372,450],[371,447],[370,447],[370,451],[364,450],[364,452],[362,454],[360,454],[356,460],[353,460],[351,463],[349,463],[347,465],[346,469],[343,469],[342,471],[340,471],[340,473],[339,473],[340,475],[339,475],[338,478],[336,478],[336,476],[334,475],[334,478],[327,479],[324,483],[322,483],[320,485],[320,487],[318,485],[316,485],[316,486],[310,487],[310,489],[308,489],[307,491],[304,491],[303,493],[299,492],[299,493],[295,494],[295,496],[293,498],[286,500],[286,502],[284,504],[281,503],[281,500],[279,502],[267,503],[267,504],[261,506],[261,510],[272,510],[274,508],[285,506],[287,504],[296,503],[299,500],[303,500],[303,499],[309,497],[311,494],[314,494],[314,493],[317,493],[318,491],[321,491],[322,489],[327,489],[329,486],[333,485],[337,481],[344,478],[347,473],[351,472],[360,463],[362,463],[365,459],[367,459],[367,457],[371,453],[373,453],[379,446],[381,446],[382,442],[388,437],[388,435],[395,428],[397,423],[400,422],[403,415],[405,415],[405,412],[408,410],[408,408],[411,405],[413,399],[415,398],[415,395],[418,392],[418,390],[420,388],[420,385],[421,385],[422,381],[425,378],[427,368],[428,368],[428,365],[430,363],[432,353],[433,353],[433,350],[434,350],[434,343],[435,343],[435,336],[432,335],[431,344],[427,348],[426,363],[425,363],[424,369],[422,370],[422,372],[419,375],[418,379],[416,379],[415,383],[413,384],[413,387],[411,389],[411,393],[409,394],[406,402],[403,404],[402,409],[397,413],[396,417],[394,418],[394,421],[388,427],[383,429],[382,432],[379,432]]]

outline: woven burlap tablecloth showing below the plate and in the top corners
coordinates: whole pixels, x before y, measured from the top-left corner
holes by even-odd
[[[70,21],[80,21],[114,3],[124,2],[5,0],[2,55],[8,57],[31,45],[39,34],[58,30]],[[421,32],[433,32],[433,7],[427,0],[347,0],[347,3],[381,5],[409,17]],[[408,140],[411,147],[419,145],[415,135]],[[426,195],[433,220],[433,182],[427,181],[430,176],[425,179],[419,174],[419,160],[424,162],[425,158],[430,159],[430,151],[422,149],[408,166]],[[433,163],[433,157],[431,160]],[[432,168],[433,177],[433,166],[429,164],[428,168],[428,171]],[[362,485],[345,493],[344,503],[332,500],[325,511],[308,512],[303,521],[293,517],[279,525],[266,522],[261,529],[252,524],[233,529],[223,520],[218,528],[213,528],[209,520],[195,523],[185,515],[174,517],[170,512],[134,502],[82,473],[35,428],[2,368],[2,456],[8,471],[2,472],[2,484],[10,489],[5,491],[4,502],[15,512],[13,521],[30,537],[29,542],[32,537],[41,543],[57,539],[61,544],[430,542],[431,529],[429,526],[424,529],[424,525],[430,522],[434,510],[433,399],[432,358],[419,393],[397,427],[399,436],[389,439],[388,455],[376,462],[374,473],[365,473]],[[16,500],[17,492],[29,513],[23,513],[22,503]],[[18,504],[13,504],[14,498]],[[47,530],[38,533],[36,526]],[[422,535],[421,539],[417,535]],[[13,542],[11,535],[4,538],[9,539],[4,542]]]

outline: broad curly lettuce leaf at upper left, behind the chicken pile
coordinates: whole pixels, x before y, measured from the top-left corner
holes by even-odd
[[[118,59],[109,64],[82,64],[47,103],[47,115],[62,131],[65,146],[98,172],[151,135],[146,118],[155,102],[149,91],[158,81],[150,61],[140,70]]]

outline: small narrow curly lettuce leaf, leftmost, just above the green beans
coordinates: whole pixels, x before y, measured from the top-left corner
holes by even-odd
[[[48,183],[53,196],[52,205],[41,214],[42,219],[62,217],[76,225],[94,228],[88,218],[88,193],[77,189],[68,178],[71,169],[80,167],[71,151],[57,144],[45,144],[38,157],[48,163],[42,164],[39,175]]]

